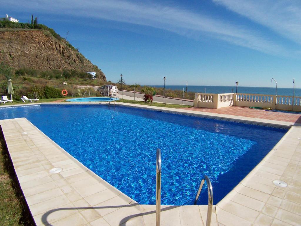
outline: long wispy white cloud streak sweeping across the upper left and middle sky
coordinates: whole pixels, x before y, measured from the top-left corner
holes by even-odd
[[[232,2],[216,0],[221,4]],[[233,0],[234,2],[234,0]],[[180,35],[195,34],[208,35],[215,39],[222,39],[231,44],[244,46],[272,55],[285,55],[286,49],[273,42],[259,31],[248,29],[240,24],[219,20],[208,15],[198,14],[172,5],[155,3],[137,3],[129,1],[100,0],[23,0],[7,3],[22,10],[47,12],[52,14],[67,14],[74,17],[90,17],[113,20],[131,24],[151,26],[169,30]],[[230,7],[227,5],[227,7]],[[235,6],[238,8],[238,6]],[[291,26],[295,26],[292,24]],[[301,32],[301,31],[300,31]],[[297,37],[297,32],[294,33]]]

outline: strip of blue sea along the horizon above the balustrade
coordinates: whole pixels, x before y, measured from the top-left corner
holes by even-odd
[[[164,86],[152,86],[157,88],[162,88]],[[186,90],[186,86],[165,86],[165,89],[172,90]],[[235,93],[236,86],[187,86],[188,92],[194,93]],[[277,95],[293,96],[293,88],[277,88]],[[247,87],[238,86],[237,93],[251,93],[251,94],[267,94],[275,95],[276,87]],[[295,88],[295,96],[301,96],[301,89]]]

